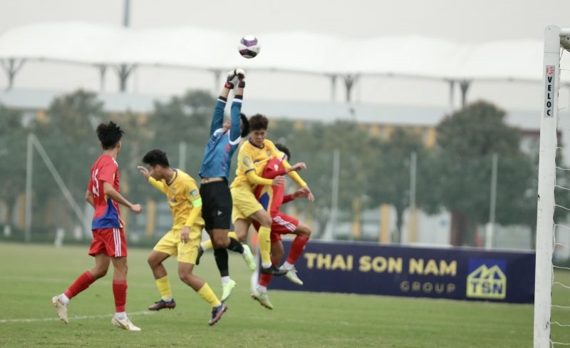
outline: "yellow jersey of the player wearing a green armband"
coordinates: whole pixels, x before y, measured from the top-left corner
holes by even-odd
[[[148,182],[162,193],[165,193],[174,220],[172,230],[182,230],[182,227],[185,225],[188,227],[196,224],[204,225],[204,219],[202,219],[201,214],[196,216],[195,212],[191,216],[192,210],[197,208],[199,208],[201,213],[202,198],[200,198],[196,180],[190,175],[180,169],[175,169],[174,178],[170,183],[167,183],[164,179],[157,181],[152,177],[148,178]]]

